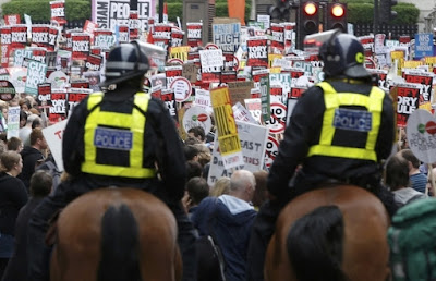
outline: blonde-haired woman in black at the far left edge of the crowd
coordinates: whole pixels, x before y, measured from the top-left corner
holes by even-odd
[[[23,168],[21,155],[4,151],[0,171],[0,279],[13,253],[15,220],[21,207],[27,203],[27,191],[16,179]]]

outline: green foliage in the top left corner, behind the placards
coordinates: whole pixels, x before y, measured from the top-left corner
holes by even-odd
[[[50,1],[47,0],[13,0],[1,5],[2,14],[24,14],[32,16],[33,21],[50,21]],[[66,0],[65,17],[68,21],[90,19],[90,1]]]

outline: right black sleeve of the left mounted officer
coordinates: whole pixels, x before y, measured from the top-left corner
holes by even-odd
[[[153,98],[148,106],[148,122],[157,134],[156,157],[158,170],[170,199],[180,200],[186,179],[185,158],[175,123],[160,100]]]

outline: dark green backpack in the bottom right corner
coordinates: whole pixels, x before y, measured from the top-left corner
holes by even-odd
[[[400,208],[388,230],[392,280],[436,279],[436,199]]]

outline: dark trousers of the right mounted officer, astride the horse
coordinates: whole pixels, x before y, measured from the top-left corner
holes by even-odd
[[[393,194],[382,185],[372,187],[370,188],[370,191],[382,200],[389,216],[392,217],[398,209],[393,201]],[[289,200],[292,200],[298,195],[304,193],[303,188],[300,187],[295,187],[295,190],[293,190],[292,192],[293,193],[291,195],[284,197],[288,197]],[[257,217],[253,223],[249,243],[246,262],[247,281],[264,280],[264,262],[266,249],[275,232],[277,218],[287,203],[287,200],[266,201],[261,207]]]

